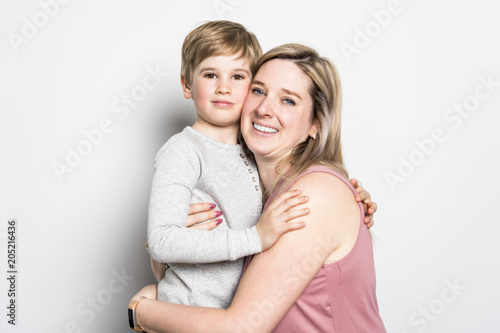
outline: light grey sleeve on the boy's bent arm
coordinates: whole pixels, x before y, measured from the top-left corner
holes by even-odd
[[[255,226],[242,230],[186,227],[193,189],[201,175],[192,145],[166,144],[157,155],[148,212],[148,248],[160,263],[232,261],[262,251]]]

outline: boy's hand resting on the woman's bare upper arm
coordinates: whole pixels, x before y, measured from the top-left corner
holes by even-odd
[[[281,194],[264,210],[257,222],[262,251],[266,251],[286,232],[302,229],[305,222],[288,222],[296,217],[309,214],[309,208],[292,209],[306,203],[309,198],[299,196],[300,191],[289,191]]]

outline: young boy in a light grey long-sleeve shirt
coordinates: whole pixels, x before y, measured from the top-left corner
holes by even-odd
[[[263,250],[255,227],[262,210],[259,175],[238,144],[241,109],[261,54],[257,38],[228,21],[203,24],[184,40],[181,84],[196,122],[156,156],[148,250],[170,267],[158,300],[227,308],[244,257]],[[186,228],[190,203],[200,202],[215,203],[225,223],[210,232]]]

